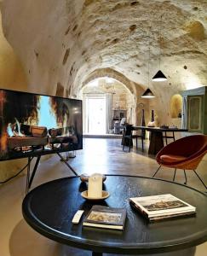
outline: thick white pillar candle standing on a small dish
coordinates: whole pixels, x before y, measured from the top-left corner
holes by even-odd
[[[95,173],[89,177],[88,196],[91,198],[102,197],[103,178],[100,173]]]

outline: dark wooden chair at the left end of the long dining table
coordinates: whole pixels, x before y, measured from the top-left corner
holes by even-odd
[[[135,138],[135,145],[136,148],[138,148],[138,138],[141,138],[141,149],[144,151],[144,139],[143,133],[141,134],[133,134],[133,131],[135,131],[135,128],[133,125],[125,125],[124,126],[124,134],[123,134],[123,151],[125,146],[129,146],[129,152],[131,149],[131,146],[133,146],[133,139]]]

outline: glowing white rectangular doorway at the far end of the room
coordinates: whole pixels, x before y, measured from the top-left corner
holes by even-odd
[[[89,134],[106,134],[106,99],[88,98],[87,118]]]

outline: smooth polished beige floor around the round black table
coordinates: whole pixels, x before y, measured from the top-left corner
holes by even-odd
[[[133,148],[128,153],[123,152],[120,139],[85,138],[83,148],[83,150],[76,152],[75,158],[68,161],[78,174],[101,172],[151,177],[158,167],[154,158],[147,154],[147,143],[144,153],[141,152],[141,148],[138,150]],[[207,158],[204,158],[198,166],[198,173],[204,178],[205,183],[207,183],[206,168]],[[32,187],[68,175],[72,175],[72,172],[60,161],[57,155],[45,157],[40,162]],[[173,170],[164,170],[163,168],[158,172],[157,177],[170,180],[173,177]],[[192,172],[187,172],[187,179],[188,185],[204,190]],[[177,173],[176,181],[184,182],[184,175],[180,170]],[[0,186],[0,256],[90,255],[89,252],[64,247],[55,241],[50,241],[37,234],[26,224],[21,214],[25,185],[26,176],[21,175]],[[195,255],[204,256],[206,250],[207,243],[204,243],[197,247]]]

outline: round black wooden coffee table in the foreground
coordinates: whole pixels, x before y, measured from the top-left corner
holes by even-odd
[[[198,190],[155,178],[118,175],[106,178],[104,189],[111,194],[106,201],[85,201],[80,195],[85,189],[87,184],[81,183],[79,177],[44,183],[26,195],[22,204],[23,216],[43,236],[93,251],[94,255],[167,253],[207,241],[207,196]],[[149,223],[129,206],[129,197],[160,194],[172,194],[187,201],[196,207],[196,216]],[[125,207],[124,230],[83,227],[84,217],[79,224],[72,224],[78,209],[85,210],[85,216],[94,204]]]

